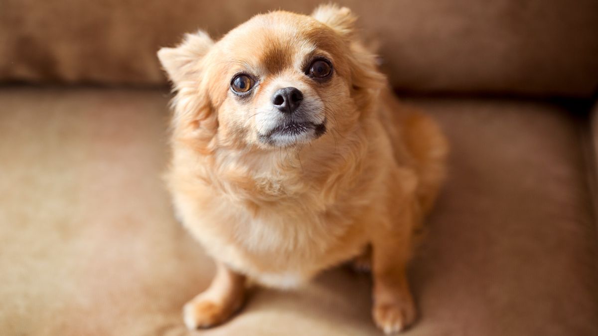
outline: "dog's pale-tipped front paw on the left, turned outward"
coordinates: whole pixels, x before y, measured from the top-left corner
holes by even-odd
[[[188,329],[209,328],[219,325],[234,312],[225,304],[212,300],[192,300],[183,307],[183,319]]]

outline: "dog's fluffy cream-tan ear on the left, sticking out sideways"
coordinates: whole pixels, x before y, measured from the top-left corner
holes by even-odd
[[[192,78],[197,79],[198,63],[208,53],[214,42],[207,33],[199,30],[185,34],[185,38],[176,48],[161,48],[158,59],[175,85]]]

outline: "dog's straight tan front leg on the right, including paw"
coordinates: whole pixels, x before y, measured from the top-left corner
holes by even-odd
[[[373,237],[372,315],[386,334],[399,332],[416,319],[416,308],[405,274],[411,254],[411,231],[416,226],[416,210],[403,209],[398,218],[401,222],[384,225]]]

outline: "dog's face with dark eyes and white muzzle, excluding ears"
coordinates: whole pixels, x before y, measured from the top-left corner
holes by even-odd
[[[319,138],[332,113],[324,99],[348,97],[347,83],[335,71],[337,50],[331,48],[340,38],[322,26],[306,31],[303,20],[285,16],[295,19],[256,17],[219,46],[224,63],[213,78],[230,83],[221,93],[220,126],[231,135],[244,133],[249,143],[288,146]],[[313,33],[330,45],[309,36]]]

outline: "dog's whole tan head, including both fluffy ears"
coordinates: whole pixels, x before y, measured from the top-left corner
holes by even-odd
[[[385,83],[347,8],[253,17],[218,42],[185,36],[158,57],[178,94],[175,132],[205,149],[268,150],[358,128]]]

